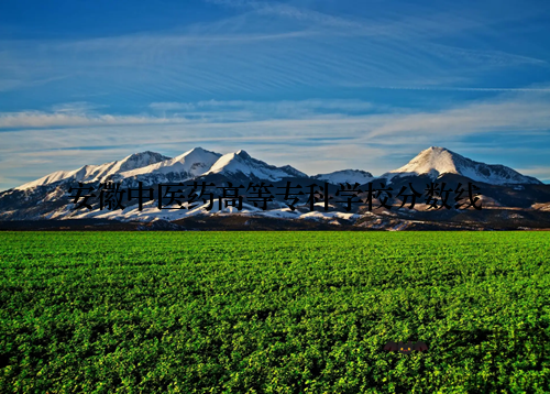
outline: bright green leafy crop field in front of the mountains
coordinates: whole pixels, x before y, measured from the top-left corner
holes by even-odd
[[[0,273],[1,393],[550,392],[548,232],[3,232]]]

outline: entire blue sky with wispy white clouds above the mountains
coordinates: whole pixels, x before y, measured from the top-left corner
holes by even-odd
[[[550,2],[0,2],[0,190],[146,150],[381,175],[432,145],[550,183]]]

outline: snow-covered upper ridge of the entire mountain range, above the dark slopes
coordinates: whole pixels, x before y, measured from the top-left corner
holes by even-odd
[[[170,174],[172,176],[168,176]],[[339,169],[331,173],[307,175],[290,165],[275,166],[252,157],[246,151],[239,150],[227,154],[207,151],[200,146],[194,147],[176,157],[161,153],[144,151],[131,154],[120,161],[99,165],[85,165],[73,171],[58,171],[38,179],[16,186],[13,189],[25,190],[36,186],[55,184],[57,182],[102,182],[122,180],[125,178],[145,179],[146,184],[155,182],[188,180],[197,176],[211,174],[254,176],[265,180],[280,180],[284,177],[302,177],[324,180],[332,184],[359,183],[365,184],[375,179],[386,179],[392,183],[397,177],[428,175],[432,180],[443,174],[457,174],[474,182],[492,185],[536,184],[539,179],[522,175],[517,171],[501,165],[485,164],[464,157],[441,146],[430,146],[406,165],[386,172],[381,176],[363,169]],[[147,182],[147,177],[151,177]]]

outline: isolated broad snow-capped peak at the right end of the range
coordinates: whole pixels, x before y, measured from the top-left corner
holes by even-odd
[[[400,168],[391,171],[381,178],[393,179],[411,175],[428,175],[437,179],[443,174],[457,174],[475,182],[491,185],[542,184],[537,178],[519,174],[517,171],[499,164],[474,162],[458,153],[440,146],[431,146],[420,152]]]

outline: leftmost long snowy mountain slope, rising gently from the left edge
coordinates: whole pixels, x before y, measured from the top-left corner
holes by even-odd
[[[100,165],[85,165],[74,171],[57,171],[48,174],[40,179],[29,182],[24,185],[15,187],[16,190],[32,189],[36,186],[50,185],[59,180],[65,182],[101,182],[112,175],[129,172],[132,169],[148,166],[150,164],[158,163],[168,160],[156,152],[145,151],[131,154],[120,161],[109,162]]]

